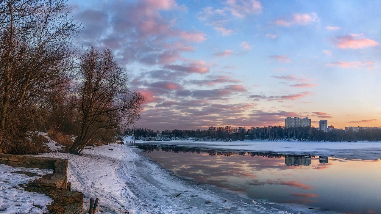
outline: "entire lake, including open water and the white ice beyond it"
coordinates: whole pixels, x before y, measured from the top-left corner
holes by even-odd
[[[380,142],[137,143],[177,176],[244,198],[381,213]]]

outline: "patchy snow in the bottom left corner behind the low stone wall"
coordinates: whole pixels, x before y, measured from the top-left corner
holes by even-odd
[[[14,171],[33,172],[40,176],[53,173],[49,169],[19,168],[0,164],[0,214],[14,213],[49,213],[46,205],[52,200],[46,195],[27,192],[19,184],[27,184],[30,180],[40,177],[30,177],[24,174],[12,173]],[[36,206],[41,206],[38,208]]]

